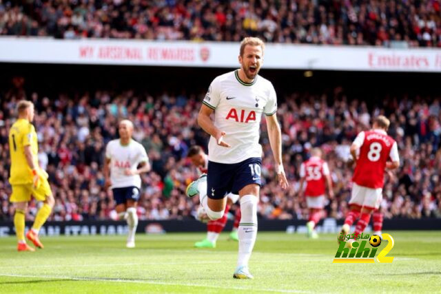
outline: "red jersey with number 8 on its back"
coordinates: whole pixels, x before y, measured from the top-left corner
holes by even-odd
[[[384,169],[391,157],[391,149],[395,140],[380,130],[371,130],[364,133],[364,140],[360,146],[360,156],[357,160],[352,181],[362,187],[371,189],[382,188],[384,185]],[[363,134],[361,134],[363,135]],[[360,140],[360,134],[356,141]],[[362,138],[362,136],[361,136]],[[355,141],[355,142],[356,142]],[[396,149],[395,160],[398,159]],[[391,158],[394,160],[394,158]]]

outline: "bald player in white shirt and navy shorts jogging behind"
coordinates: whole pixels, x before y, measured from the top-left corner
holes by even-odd
[[[136,205],[141,191],[142,173],[150,171],[150,162],[143,145],[132,139],[133,123],[121,120],[119,139],[111,140],[105,148],[105,186],[112,187],[119,220],[129,226],[127,248],[134,248],[138,226]],[[138,168],[139,167],[139,168]]]

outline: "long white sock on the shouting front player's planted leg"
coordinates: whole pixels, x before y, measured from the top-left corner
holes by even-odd
[[[237,266],[248,266],[257,236],[257,202],[254,195],[245,195],[240,198],[240,224],[238,228],[239,254]]]

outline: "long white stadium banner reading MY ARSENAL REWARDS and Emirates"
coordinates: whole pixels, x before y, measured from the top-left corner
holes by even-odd
[[[238,43],[0,38],[0,62],[238,67]],[[267,44],[265,68],[441,72],[441,50]]]

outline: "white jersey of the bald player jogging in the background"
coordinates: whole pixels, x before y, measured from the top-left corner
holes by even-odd
[[[141,176],[126,176],[125,169],[136,170],[141,162],[149,161],[143,145],[130,140],[128,145],[121,145],[120,140],[111,140],[105,147],[105,157],[110,159],[110,180],[112,188],[138,187],[141,189]]]

